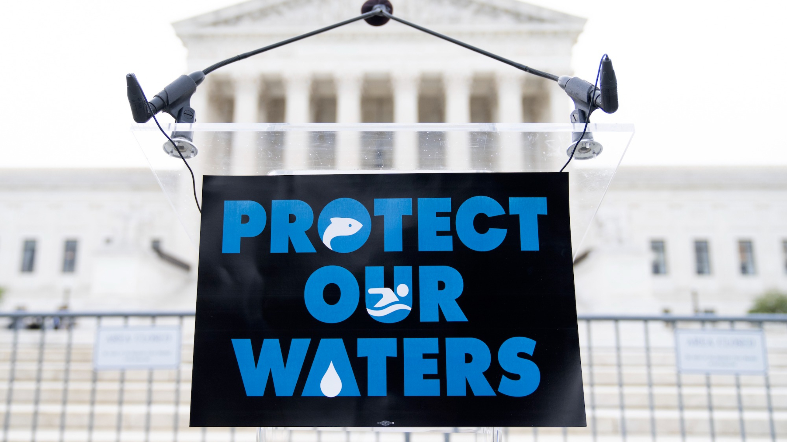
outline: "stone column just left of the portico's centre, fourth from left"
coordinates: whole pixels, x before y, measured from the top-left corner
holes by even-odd
[[[360,123],[360,98],[364,76],[359,72],[338,72],[336,83],[336,123]],[[359,169],[360,132],[342,131],[336,134],[336,168]]]

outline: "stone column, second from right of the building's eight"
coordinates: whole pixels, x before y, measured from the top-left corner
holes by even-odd
[[[501,72],[497,81],[497,121],[522,123],[522,76],[517,72]],[[499,171],[523,171],[523,138],[518,132],[501,132],[497,149]]]

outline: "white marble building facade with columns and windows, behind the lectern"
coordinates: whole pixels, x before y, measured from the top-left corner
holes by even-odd
[[[191,72],[354,17],[359,6],[253,0],[174,26]],[[557,74],[571,73],[571,48],[584,26],[515,0],[397,0],[394,7],[408,20]],[[393,22],[350,24],[222,68],[192,106],[198,121],[225,123],[565,123],[571,111],[555,83]],[[287,142],[276,164],[232,149],[228,167],[412,169],[427,160],[423,140],[386,138],[390,144],[375,155],[346,138],[334,139],[335,151],[317,167],[313,152]],[[466,139],[450,142],[451,153],[433,159],[436,168],[484,160],[468,153]],[[504,147],[497,169],[518,170],[523,157]],[[768,289],[787,291],[785,176],[783,167],[621,168],[576,251],[578,311],[740,314]],[[190,193],[190,182],[181,184]],[[191,310],[196,262],[150,171],[0,171],[4,311],[61,304]]]

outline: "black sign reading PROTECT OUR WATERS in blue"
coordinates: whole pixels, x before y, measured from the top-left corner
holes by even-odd
[[[194,426],[584,426],[567,174],[205,176]]]

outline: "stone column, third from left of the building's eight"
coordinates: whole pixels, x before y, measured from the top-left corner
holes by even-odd
[[[290,124],[309,123],[309,100],[312,77],[305,72],[286,72],[284,75],[284,121]],[[284,168],[309,168],[309,136],[303,132],[287,132],[284,141]]]

